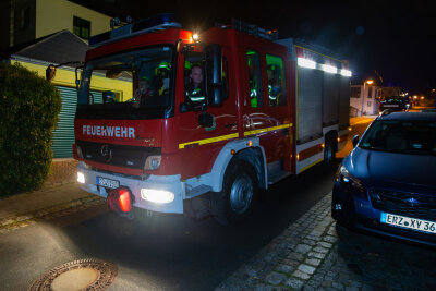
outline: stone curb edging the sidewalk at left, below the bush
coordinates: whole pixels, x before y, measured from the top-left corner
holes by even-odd
[[[24,228],[45,219],[61,217],[89,207],[105,204],[105,199],[99,196],[87,196],[68,203],[50,206],[33,213],[22,214],[15,217],[3,218],[0,220],[0,234],[19,228]]]

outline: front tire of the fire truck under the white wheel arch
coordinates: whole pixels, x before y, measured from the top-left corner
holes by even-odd
[[[223,226],[243,220],[253,209],[257,195],[258,181],[253,166],[244,160],[231,162],[221,192],[211,195],[216,220]]]

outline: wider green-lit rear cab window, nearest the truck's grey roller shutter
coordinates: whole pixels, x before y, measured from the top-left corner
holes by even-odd
[[[270,107],[286,105],[284,68],[280,57],[266,54],[268,102]]]

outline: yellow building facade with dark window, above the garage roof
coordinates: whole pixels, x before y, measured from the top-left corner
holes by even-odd
[[[110,29],[110,16],[68,0],[3,0],[0,49],[68,29],[84,40]]]

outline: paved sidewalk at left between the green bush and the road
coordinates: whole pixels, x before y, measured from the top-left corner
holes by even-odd
[[[53,173],[40,190],[0,199],[0,233],[104,203],[100,197],[78,187],[75,163],[72,160],[53,161]]]

